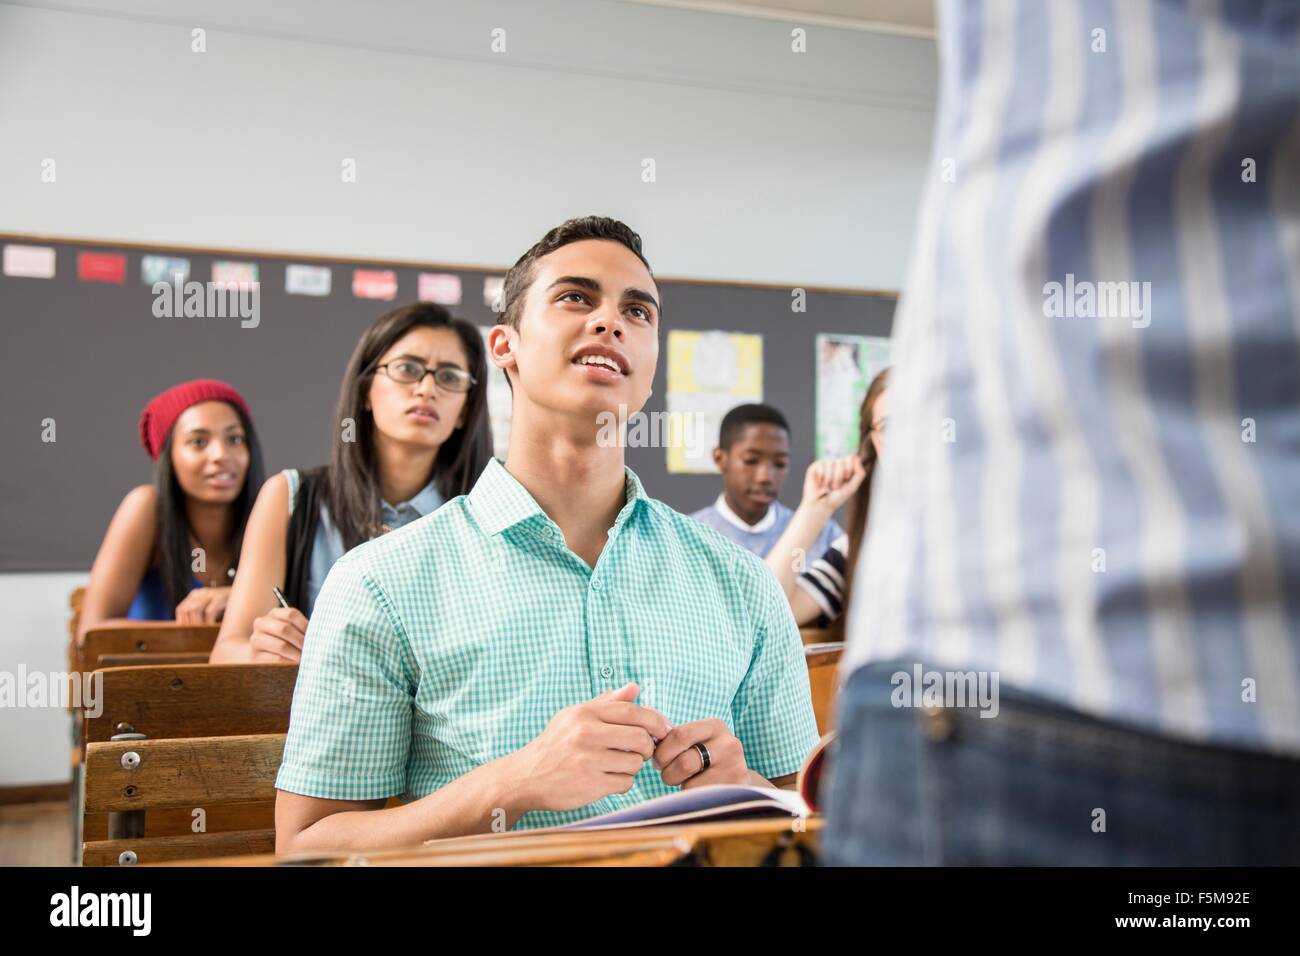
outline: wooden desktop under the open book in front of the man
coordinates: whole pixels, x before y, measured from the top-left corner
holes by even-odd
[[[796,826],[798,825],[798,826]],[[822,817],[734,819],[629,830],[482,834],[364,853],[286,853],[170,866],[798,866],[812,862]],[[774,852],[776,851],[776,852]]]

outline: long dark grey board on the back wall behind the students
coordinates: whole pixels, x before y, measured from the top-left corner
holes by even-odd
[[[421,272],[439,272],[462,278],[463,302],[451,311],[490,325],[495,315],[484,302],[484,284],[506,271],[5,234],[0,242],[53,247],[56,254],[53,278],[0,276],[0,571],[90,567],[122,496],[151,480],[152,462],[136,429],[151,395],[187,378],[222,378],[254,411],[268,473],[324,463],[343,367],[367,324],[415,302]],[[125,255],[125,281],[78,278],[79,252]],[[653,265],[654,250],[646,252]],[[155,316],[153,291],[142,278],[146,255],[185,258],[190,278],[200,282],[212,278],[213,260],[256,263],[257,326],[243,328],[238,317]],[[328,265],[330,294],[287,294],[289,264]],[[354,297],[354,269],[395,272],[395,298]],[[659,289],[664,342],[646,411],[664,410],[668,330],[762,334],[764,401],[785,414],[793,432],[792,472],[781,496],[793,507],[812,460],[815,336],[887,336],[894,297],[807,287],[806,311],[793,312],[788,286],[660,278]],[[47,420],[53,420],[53,441],[46,440]],[[650,494],[681,511],[718,496],[714,475],[668,473],[663,449],[629,449],[627,460]]]

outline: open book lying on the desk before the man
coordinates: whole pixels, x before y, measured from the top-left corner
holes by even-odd
[[[646,800],[599,817],[576,823],[547,827],[551,830],[616,830],[666,823],[698,823],[731,817],[807,817],[818,810],[816,793],[822,782],[826,752],[835,732],[822,737],[800,767],[794,790],[772,790],[746,784],[716,784],[682,790]],[[536,832],[536,831],[534,831]]]

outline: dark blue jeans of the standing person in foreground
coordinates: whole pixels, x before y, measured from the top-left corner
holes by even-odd
[[[998,713],[838,702],[824,860],[844,865],[1295,865],[1300,761],[1200,747],[1002,687]]]

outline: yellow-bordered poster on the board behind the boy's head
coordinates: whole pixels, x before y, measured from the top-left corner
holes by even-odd
[[[763,337],[736,332],[668,333],[668,471],[707,475],[723,416],[763,401]],[[688,427],[685,418],[692,420]],[[693,441],[680,440],[690,436]]]

